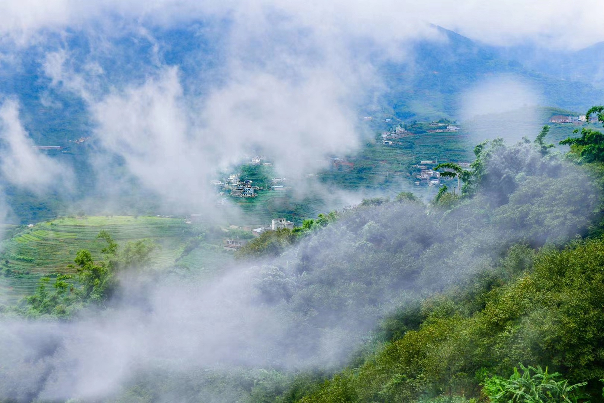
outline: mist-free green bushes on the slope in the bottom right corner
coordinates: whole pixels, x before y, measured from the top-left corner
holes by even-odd
[[[482,376],[509,376],[518,361],[550,365],[571,382],[589,381],[590,391],[597,393],[604,373],[604,339],[597,330],[604,326],[597,308],[604,303],[599,291],[604,287],[602,257],[603,240],[537,254],[513,247],[497,274],[465,284],[471,291],[460,287],[434,294],[419,313],[391,319],[387,329],[391,334],[402,329],[393,333],[402,337],[395,336],[360,367],[334,376],[302,401],[413,401],[439,393],[478,397],[484,385],[490,401],[507,402],[520,393],[517,372],[509,382],[500,375],[485,382]],[[409,329],[417,315],[419,327]],[[576,401],[572,392],[577,385],[554,381],[559,374],[536,371],[529,378],[536,383],[535,400],[513,401],[539,401],[548,392],[553,397],[542,401]],[[528,376],[525,370],[519,378],[526,381]],[[559,398],[566,393],[570,400]]]

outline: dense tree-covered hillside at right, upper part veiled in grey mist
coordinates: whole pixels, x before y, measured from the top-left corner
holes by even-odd
[[[518,362],[561,372],[568,381],[552,382],[570,388],[571,401],[577,382],[588,381],[592,398],[599,396],[604,241],[562,246],[600,220],[600,184],[550,152],[545,134],[513,146],[478,145],[466,196],[445,205],[453,195],[443,193],[428,215],[417,203],[364,203],[298,249],[295,270],[306,286],[288,282],[288,270],[278,277],[289,284],[278,297],[289,309],[312,312],[316,323],[354,317],[361,326],[406,307],[384,316],[381,347],[308,385],[301,401],[486,399],[485,379],[514,380]],[[299,400],[286,396],[266,401]]]

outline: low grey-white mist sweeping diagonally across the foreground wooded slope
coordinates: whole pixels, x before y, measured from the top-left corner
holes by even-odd
[[[561,245],[589,230],[599,187],[584,169],[530,143],[484,147],[477,193],[452,209],[364,203],[281,256],[212,280],[126,271],[106,310],[5,317],[0,398],[109,399],[152,370],[335,369],[388,313],[488,274],[512,244]]]

